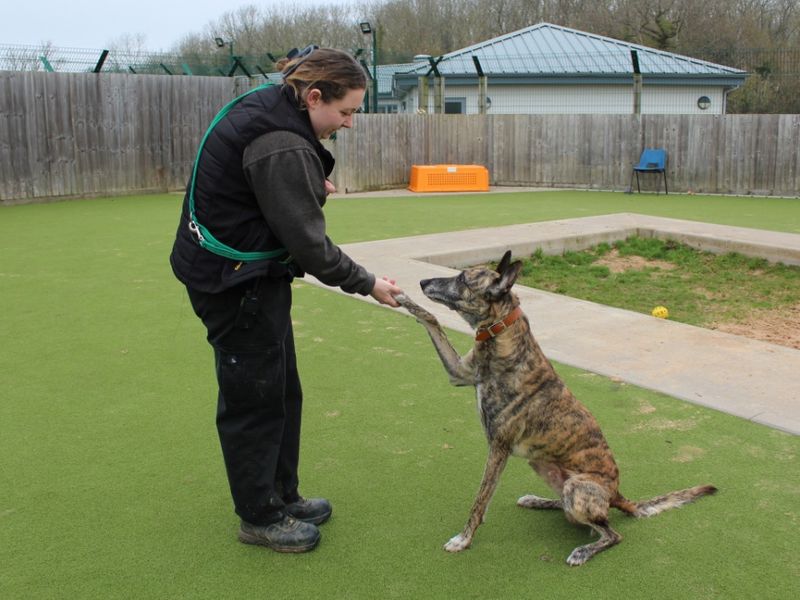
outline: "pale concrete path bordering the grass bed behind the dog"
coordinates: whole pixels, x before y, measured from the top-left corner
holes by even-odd
[[[420,279],[451,276],[459,267],[498,260],[508,249],[520,256],[537,248],[560,253],[633,234],[800,264],[800,235],[630,213],[347,244],[342,249],[377,275],[395,278],[444,326],[471,333],[455,313],[422,295]],[[514,290],[551,359],[800,434],[800,350],[523,286]]]

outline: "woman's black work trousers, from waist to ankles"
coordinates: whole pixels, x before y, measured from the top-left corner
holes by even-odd
[[[218,294],[188,291],[214,349],[217,431],[236,514],[274,523],[299,497],[303,393],[291,284],[264,277]]]

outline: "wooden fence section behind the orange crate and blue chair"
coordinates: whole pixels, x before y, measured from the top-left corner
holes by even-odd
[[[334,183],[401,187],[412,164],[462,163],[492,185],[621,191],[645,147],[666,148],[672,191],[800,195],[800,115],[359,115]]]

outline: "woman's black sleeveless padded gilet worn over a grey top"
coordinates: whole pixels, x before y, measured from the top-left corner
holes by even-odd
[[[196,218],[220,242],[236,250],[257,252],[281,246],[264,220],[242,166],[245,148],[251,142],[279,130],[308,140],[322,161],[325,176],[330,175],[333,156],[314,135],[308,112],[300,109],[294,91],[285,85],[243,97],[208,135],[200,155],[194,191]],[[254,277],[286,274],[287,267],[277,261],[242,265],[202,248],[189,230],[188,187],[170,255],[172,270],[181,282],[216,293]]]

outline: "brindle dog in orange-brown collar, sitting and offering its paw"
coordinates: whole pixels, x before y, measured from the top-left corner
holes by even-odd
[[[453,385],[474,385],[489,456],[478,496],[464,530],[445,544],[448,552],[468,548],[497,487],[508,457],[528,461],[558,494],[558,500],[523,496],[525,508],[562,509],[569,521],[600,534],[567,558],[581,565],[618,544],[622,537],[608,523],[609,508],[649,517],[713,494],[711,485],[631,502],[619,492],[619,470],[600,426],[553,370],[531,333],[528,319],[511,291],[522,268],[506,252],[497,271],[476,267],[456,277],[425,279],[431,300],[461,315],[476,330],[475,346],[461,357],[436,317],[405,295],[397,301],[425,326]]]

